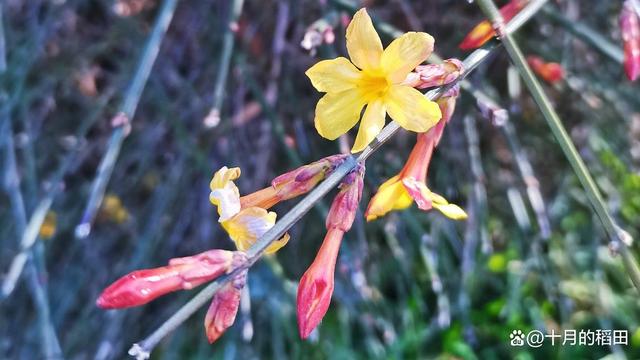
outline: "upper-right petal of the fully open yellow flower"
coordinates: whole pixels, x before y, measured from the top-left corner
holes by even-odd
[[[403,82],[407,74],[431,55],[433,42],[433,37],[423,32],[408,32],[393,40],[380,60],[380,67],[389,81],[392,84]]]

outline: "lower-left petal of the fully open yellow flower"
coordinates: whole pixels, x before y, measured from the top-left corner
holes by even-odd
[[[320,136],[335,140],[358,122],[364,99],[357,89],[325,94],[316,105],[316,130]]]

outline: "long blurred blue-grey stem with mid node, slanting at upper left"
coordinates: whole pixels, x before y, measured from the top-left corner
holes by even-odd
[[[91,193],[89,195],[89,200],[87,201],[84,214],[82,215],[82,220],[80,221],[80,224],[76,226],[75,235],[77,238],[85,238],[91,232],[91,225],[95,219],[98,209],[100,208],[102,199],[104,198],[104,193],[106,191],[107,184],[109,183],[109,179],[111,178],[111,174],[113,173],[113,168],[116,164],[116,160],[118,159],[124,138],[131,130],[130,122],[136,112],[140,96],[142,95],[142,90],[147,83],[147,79],[149,79],[149,74],[151,73],[153,64],[158,56],[158,52],[160,51],[162,39],[164,38],[169,24],[171,23],[177,2],[178,0],[164,0],[162,7],[159,10],[153,30],[147,39],[144,51],[140,57],[136,72],[133,75],[133,79],[131,80],[129,88],[125,94],[124,101],[122,102],[118,114],[113,119],[120,119],[120,121],[112,121],[111,125],[114,126],[115,129],[111,133],[107,151],[100,161],[98,173],[96,174],[96,178],[93,180]]]

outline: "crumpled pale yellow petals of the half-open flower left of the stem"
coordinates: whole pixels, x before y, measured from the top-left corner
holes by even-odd
[[[233,182],[240,177],[240,168],[223,166],[211,179],[209,201],[218,207],[218,221],[240,251],[247,251],[276,223],[276,213],[258,206],[242,206],[240,191]],[[265,251],[272,254],[285,246],[289,234],[273,242]]]

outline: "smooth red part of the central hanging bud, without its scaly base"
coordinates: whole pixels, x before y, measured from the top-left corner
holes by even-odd
[[[333,273],[344,231],[332,228],[298,286],[298,331],[302,339],[309,337],[327,313],[333,294]]]

